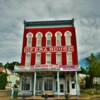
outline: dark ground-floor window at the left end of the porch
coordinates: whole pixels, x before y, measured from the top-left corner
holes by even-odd
[[[31,77],[22,77],[22,90],[30,90],[30,85],[31,85]]]

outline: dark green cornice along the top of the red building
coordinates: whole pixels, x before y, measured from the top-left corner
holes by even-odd
[[[46,27],[46,26],[71,26],[74,27],[74,18],[71,20],[50,21],[24,21],[24,27]]]

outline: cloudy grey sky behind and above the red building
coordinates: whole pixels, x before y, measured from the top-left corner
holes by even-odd
[[[21,61],[24,20],[72,18],[78,59],[100,52],[100,0],[0,0],[0,62]]]

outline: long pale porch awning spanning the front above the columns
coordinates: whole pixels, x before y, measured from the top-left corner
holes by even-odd
[[[79,71],[78,66],[67,66],[67,65],[35,65],[35,66],[15,66],[15,72],[39,72],[39,71]]]

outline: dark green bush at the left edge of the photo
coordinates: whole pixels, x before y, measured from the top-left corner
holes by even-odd
[[[6,73],[0,73],[0,90],[5,89],[7,84],[7,74]]]

